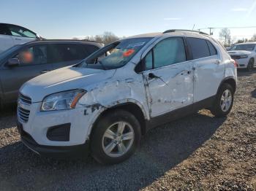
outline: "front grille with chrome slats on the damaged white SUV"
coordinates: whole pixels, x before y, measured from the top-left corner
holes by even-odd
[[[21,122],[29,121],[31,98],[20,93],[18,98],[18,118]]]

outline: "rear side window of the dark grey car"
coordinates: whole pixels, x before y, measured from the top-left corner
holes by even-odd
[[[48,44],[50,63],[83,60],[89,55],[82,44]]]

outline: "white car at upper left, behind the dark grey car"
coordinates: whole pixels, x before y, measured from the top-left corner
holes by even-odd
[[[16,44],[42,39],[41,36],[21,26],[0,23],[0,54]]]

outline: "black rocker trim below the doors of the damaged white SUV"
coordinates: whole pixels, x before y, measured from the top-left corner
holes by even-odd
[[[211,96],[210,98],[203,99],[202,101],[198,101],[197,103],[191,104],[189,106],[184,106],[180,109],[173,110],[166,114],[153,117],[151,118],[151,120],[146,121],[146,131],[159,125],[163,125],[167,122],[171,122],[181,117],[185,117],[189,114],[193,114],[200,109],[211,108],[211,106],[214,104],[215,98],[216,95]]]

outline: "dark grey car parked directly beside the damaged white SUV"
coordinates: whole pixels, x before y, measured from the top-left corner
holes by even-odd
[[[16,45],[0,55],[0,103],[16,102],[24,82],[70,66],[102,47],[97,42],[42,40]]]

